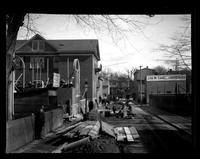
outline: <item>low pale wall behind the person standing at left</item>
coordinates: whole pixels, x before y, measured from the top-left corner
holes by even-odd
[[[52,130],[62,126],[63,110],[54,109],[45,112],[45,125],[42,135],[46,135]],[[17,120],[8,121],[6,124],[6,153],[14,151],[34,140],[35,136],[34,115]]]

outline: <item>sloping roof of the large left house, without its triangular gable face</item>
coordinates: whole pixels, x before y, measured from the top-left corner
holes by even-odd
[[[60,53],[69,53],[73,52],[74,54],[79,54],[80,52],[91,52],[95,55],[95,57],[100,60],[100,53],[99,53],[99,44],[97,39],[73,39],[73,40],[46,40],[41,37],[39,34],[36,34],[29,40],[17,40],[16,48],[19,50],[21,47],[26,45],[29,41],[33,40],[34,38],[39,37],[53,48],[56,49],[56,52]]]

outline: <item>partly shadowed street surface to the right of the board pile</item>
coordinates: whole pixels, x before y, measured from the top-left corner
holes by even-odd
[[[150,113],[151,110],[151,113]],[[137,143],[123,145],[127,153],[161,153],[191,151],[191,119],[177,116],[149,106],[132,104],[133,119],[105,118],[116,126],[134,126],[140,140]],[[154,115],[159,112],[159,116]],[[154,113],[154,114],[153,114]],[[179,129],[178,129],[178,128]],[[184,133],[183,133],[184,132]]]

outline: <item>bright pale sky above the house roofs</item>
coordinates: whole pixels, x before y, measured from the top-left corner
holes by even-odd
[[[180,19],[184,15],[155,15],[151,18],[146,15],[129,15],[145,22],[145,25],[142,25],[141,30],[127,32],[126,38],[116,42],[106,31],[95,33],[91,29],[81,28],[66,15],[34,14],[32,16],[37,17],[34,26],[45,39],[98,39],[103,70],[121,73],[131,68],[139,69],[140,65],[142,68],[147,66],[153,68],[158,65],[165,66],[167,69],[172,68],[156,60],[163,59],[163,53],[156,52],[155,49],[160,44],[171,44],[170,37],[177,32],[182,33],[181,27],[185,25]],[[18,39],[24,39],[25,35],[26,30],[21,28]],[[33,34],[30,34],[28,38],[32,36]]]

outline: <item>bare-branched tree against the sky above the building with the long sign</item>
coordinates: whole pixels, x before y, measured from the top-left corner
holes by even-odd
[[[156,51],[164,53],[160,61],[174,65],[178,62],[179,68],[191,70],[191,17],[186,15],[181,20],[185,22],[184,31],[171,37],[172,44],[162,44]]]

